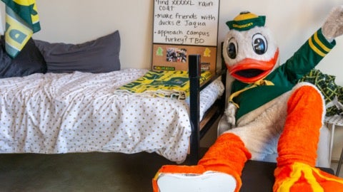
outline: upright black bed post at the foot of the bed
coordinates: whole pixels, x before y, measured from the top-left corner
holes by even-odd
[[[200,55],[189,55],[189,97],[190,97],[190,118],[192,135],[190,138],[190,156],[189,163],[197,164],[199,161],[200,149],[200,117],[199,117],[199,95],[200,84],[199,77],[201,75]]]

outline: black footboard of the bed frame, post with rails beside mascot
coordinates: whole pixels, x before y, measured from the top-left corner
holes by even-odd
[[[199,95],[200,91],[209,83],[216,80],[220,76],[224,87],[226,87],[227,68],[222,63],[221,70],[217,71],[211,80],[205,82],[203,85],[199,84],[201,75],[201,56],[189,55],[189,82],[190,82],[190,121],[192,127],[192,134],[190,137],[190,153],[187,157],[187,164],[197,164],[200,159],[200,139],[204,137],[214,123],[222,117],[225,110],[225,92],[222,97],[212,105],[209,110],[204,114],[202,121],[199,119]]]

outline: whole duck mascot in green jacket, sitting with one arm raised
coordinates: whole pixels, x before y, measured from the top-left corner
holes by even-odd
[[[239,191],[248,159],[277,151],[273,191],[343,191],[343,179],[315,167],[325,107],[321,92],[298,82],[334,48],[343,33],[343,6],[292,58],[279,65],[279,48],[265,16],[242,12],[228,21],[223,55],[235,79],[225,110],[232,129],[221,134],[195,166],[165,165],[154,191]]]

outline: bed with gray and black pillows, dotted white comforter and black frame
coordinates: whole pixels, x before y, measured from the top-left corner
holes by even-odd
[[[119,92],[151,72],[120,69],[119,50],[119,31],[81,44],[30,39],[15,59],[2,50],[0,153],[146,151],[196,164],[224,112],[225,68],[200,83],[201,57],[189,55],[184,100]]]

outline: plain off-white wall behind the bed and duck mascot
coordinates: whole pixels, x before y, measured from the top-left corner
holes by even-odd
[[[37,0],[41,31],[34,38],[64,43],[81,43],[118,29],[121,34],[122,68],[149,68],[151,62],[151,37],[153,0]],[[279,43],[281,61],[289,58],[324,21],[332,6],[341,0],[222,0],[219,9],[219,39],[228,31],[226,21],[240,11],[252,11],[267,16],[267,26],[272,28]],[[4,20],[4,4],[1,3]],[[4,21],[3,21],[4,22]],[[317,68],[337,76],[343,85],[343,38]]]

